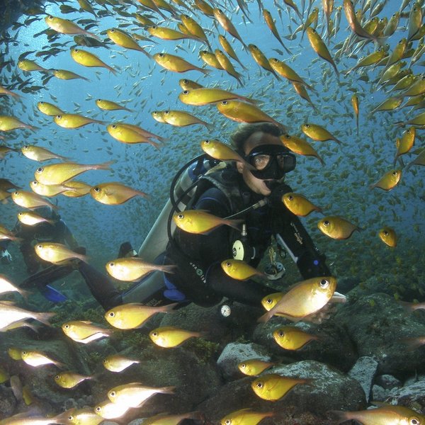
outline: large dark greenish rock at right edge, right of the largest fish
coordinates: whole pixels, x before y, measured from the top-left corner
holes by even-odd
[[[409,338],[425,334],[425,324],[406,312],[394,297],[376,293],[341,305],[334,320],[346,329],[359,356],[378,361],[378,373],[403,378],[423,365],[421,348],[408,348]]]

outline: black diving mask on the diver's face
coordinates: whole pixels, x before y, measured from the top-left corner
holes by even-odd
[[[259,145],[246,155],[246,161],[254,166],[251,173],[261,180],[280,180],[295,169],[295,155],[284,146]]]

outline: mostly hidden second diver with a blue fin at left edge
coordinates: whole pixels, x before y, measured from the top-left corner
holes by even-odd
[[[36,208],[34,212],[42,221],[38,222],[37,225],[24,225],[21,221],[18,221],[12,230],[15,237],[22,239],[19,249],[22,253],[23,261],[26,264],[28,274],[31,275],[28,279],[24,280],[21,286],[26,287],[34,283],[48,300],[52,302],[64,301],[66,298],[55,290],[55,288],[48,285],[48,283],[53,281],[51,280],[52,263],[40,259],[35,253],[34,246],[38,244],[38,242],[57,242],[66,244],[75,251],[84,251],[84,249],[79,247],[74,235],[55,210],[50,207],[40,207]],[[0,262],[3,264],[9,264],[13,261],[7,249],[10,242],[10,239],[0,242]],[[34,274],[40,267],[42,270]],[[58,268],[58,271],[59,273],[55,274],[54,280],[67,276],[72,269],[67,270],[62,267]],[[36,278],[33,281],[34,276]]]

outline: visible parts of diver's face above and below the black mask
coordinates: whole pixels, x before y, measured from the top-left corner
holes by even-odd
[[[260,145],[279,145],[282,146],[279,137],[269,135],[261,131],[254,132],[251,136],[246,139],[244,145],[245,155],[248,155],[254,147]],[[259,193],[263,196],[268,196],[271,193],[271,190],[266,186],[266,180],[257,179],[246,166],[240,162],[237,162],[237,171],[242,174],[242,177],[251,191],[254,193]]]

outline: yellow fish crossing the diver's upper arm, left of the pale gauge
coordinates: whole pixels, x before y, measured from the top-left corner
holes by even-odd
[[[227,225],[239,230],[242,220],[227,220],[203,210],[175,212],[173,220],[176,226],[188,233],[205,234],[218,226]]]

